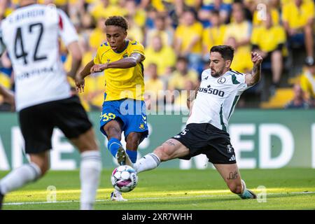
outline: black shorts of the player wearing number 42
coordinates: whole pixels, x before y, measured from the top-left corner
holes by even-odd
[[[19,120],[26,153],[50,150],[55,127],[62,130],[68,139],[76,139],[92,127],[78,96],[22,109]]]

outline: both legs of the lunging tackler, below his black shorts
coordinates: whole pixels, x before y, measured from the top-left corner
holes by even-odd
[[[146,170],[155,169],[160,165],[160,162],[172,160],[175,158],[181,158],[189,154],[188,148],[183,146],[176,139],[169,139],[165,141],[162,146],[155,148],[153,153],[145,155],[134,164],[134,169],[137,173],[144,172]],[[232,193],[235,193],[241,197],[241,199],[253,199],[256,198],[255,193],[246,189],[245,182],[241,180],[239,170],[236,164],[232,165],[214,165],[218,172],[223,176],[223,179],[227,183]]]

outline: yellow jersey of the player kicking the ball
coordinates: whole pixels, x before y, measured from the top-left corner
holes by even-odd
[[[105,64],[116,62],[125,57],[130,57],[132,53],[144,56],[144,46],[138,41],[127,40],[125,49],[116,52],[111,49],[109,43],[105,42],[97,49],[94,57],[94,64]],[[128,69],[105,69],[105,101],[113,101],[119,99],[138,99],[144,100],[144,66],[137,63],[136,66]]]

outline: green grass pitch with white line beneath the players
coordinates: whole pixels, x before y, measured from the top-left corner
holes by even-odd
[[[230,193],[214,169],[155,169],[139,174],[139,183],[127,202],[111,202],[111,170],[102,172],[95,209],[104,210],[204,210],[204,209],[315,209],[314,169],[243,169],[247,188],[263,193],[266,200],[240,200]],[[0,179],[7,172],[0,172]],[[3,209],[78,209],[80,197],[78,171],[53,171],[5,197]],[[48,186],[55,186],[55,203],[47,202]],[[260,197],[263,199],[263,197]]]

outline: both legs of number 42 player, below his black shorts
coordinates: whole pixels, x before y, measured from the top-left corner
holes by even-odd
[[[102,160],[98,146],[94,140],[92,129],[81,134],[77,139],[71,139],[80,150],[80,209],[93,209],[97,188],[99,186],[99,174],[102,170]],[[13,190],[22,188],[41,178],[49,169],[49,151],[29,154],[31,162],[14,169],[0,181],[0,208],[3,196]]]

